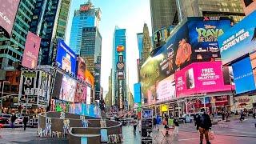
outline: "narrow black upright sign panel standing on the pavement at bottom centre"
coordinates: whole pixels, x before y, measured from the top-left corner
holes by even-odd
[[[142,144],[152,143],[153,140],[153,110],[142,109]]]

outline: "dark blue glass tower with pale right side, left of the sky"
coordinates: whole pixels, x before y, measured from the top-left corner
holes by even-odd
[[[38,62],[51,65],[56,54],[57,39],[65,39],[71,0],[36,0],[30,31],[41,40]]]

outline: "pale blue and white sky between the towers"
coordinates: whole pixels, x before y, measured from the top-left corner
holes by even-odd
[[[74,10],[87,0],[72,0],[70,16],[66,31],[66,42],[70,41],[70,29]],[[102,34],[102,79],[101,84],[105,91],[108,90],[108,77],[112,66],[112,41],[114,27],[126,29],[126,64],[129,73],[130,91],[134,93],[134,83],[138,81],[137,64],[138,45],[137,33],[141,33],[146,22],[151,32],[150,0],[91,0],[95,7],[102,10],[102,19],[99,30]],[[105,95],[104,94],[104,95]]]

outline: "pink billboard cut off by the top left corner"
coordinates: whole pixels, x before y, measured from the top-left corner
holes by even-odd
[[[10,38],[19,2],[20,0],[0,0],[0,30],[4,31],[7,38]]]

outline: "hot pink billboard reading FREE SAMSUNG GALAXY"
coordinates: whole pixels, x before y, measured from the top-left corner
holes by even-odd
[[[175,74],[177,98],[231,90],[224,84],[222,62],[197,62]]]

